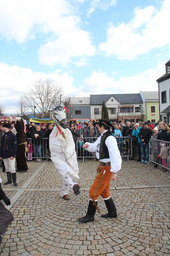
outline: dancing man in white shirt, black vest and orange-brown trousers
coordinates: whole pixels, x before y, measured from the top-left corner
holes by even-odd
[[[102,218],[117,218],[115,204],[109,195],[110,180],[116,180],[117,172],[121,169],[122,158],[120,156],[117,142],[113,134],[109,131],[110,121],[105,119],[99,119],[99,131],[101,136],[95,143],[86,142],[83,148],[86,148],[90,152],[96,151],[96,157],[99,159],[100,164],[97,167],[97,175],[89,190],[89,205],[87,213],[84,217],[79,218],[79,222],[88,222],[94,220],[94,215],[97,211],[100,213],[97,207],[98,197],[102,196],[106,204],[108,213],[101,215]]]

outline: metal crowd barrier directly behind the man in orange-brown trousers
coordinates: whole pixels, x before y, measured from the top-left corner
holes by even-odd
[[[85,148],[83,148],[83,144],[85,142],[94,143],[98,138],[78,138],[76,143],[76,152],[77,158],[83,159],[83,163],[85,158],[96,158],[95,152],[89,152]],[[130,137],[117,137],[115,138],[117,141],[117,146],[119,148],[120,154],[122,157],[127,157],[129,162],[129,157],[132,156],[132,139]]]

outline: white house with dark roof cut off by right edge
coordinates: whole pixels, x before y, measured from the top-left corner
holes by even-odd
[[[159,88],[159,112],[160,120],[164,123],[170,123],[170,60],[165,64],[166,73],[159,77],[156,81],[158,82]]]

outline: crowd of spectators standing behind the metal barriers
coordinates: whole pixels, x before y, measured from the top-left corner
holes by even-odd
[[[98,130],[98,124],[93,125],[94,121],[89,121],[88,123],[82,122],[70,123],[69,130],[72,133],[73,140],[75,143],[75,150],[77,150],[78,143],[78,157],[83,156],[83,143],[86,141],[93,143],[100,136],[100,132]],[[134,160],[140,162],[142,164],[147,164],[149,161],[149,140],[150,138],[169,141],[170,142],[170,127],[165,123],[158,121],[154,125],[148,120],[147,122],[134,123],[127,121],[126,124],[123,124],[122,121],[118,123],[112,122],[114,125],[113,128],[110,129],[112,134],[117,140],[117,144],[121,154],[125,154],[128,156],[129,152],[132,152],[130,156],[130,160]],[[27,143],[27,161],[32,161],[34,158],[37,162],[42,161],[42,159],[50,160],[50,151],[49,151],[49,136],[53,130],[53,123],[49,124],[34,124],[29,123],[26,124],[26,138]],[[12,125],[11,132],[16,134],[16,130],[14,125]],[[4,135],[4,131],[2,126],[0,127],[0,143],[1,136]],[[46,138],[46,139],[45,139]],[[87,139],[83,139],[87,138]],[[44,139],[44,140],[42,140]],[[131,143],[132,141],[132,143]],[[125,146],[123,147],[123,143]],[[124,148],[124,151],[121,149]],[[161,151],[162,146],[158,145],[156,148],[152,149],[154,154],[154,161],[157,163],[157,156]],[[92,157],[92,161],[96,161],[96,156],[93,153],[86,152],[86,155]],[[155,168],[158,167],[158,164],[154,165]]]

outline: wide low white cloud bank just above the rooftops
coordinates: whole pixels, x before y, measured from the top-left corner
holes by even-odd
[[[165,74],[165,65],[159,62],[155,69],[151,68],[143,73],[129,77],[107,76],[102,70],[92,71],[91,76],[80,82],[78,88],[74,85],[72,71],[63,72],[60,75],[56,70],[54,73],[46,74],[33,72],[29,68],[6,65],[0,63],[1,77],[1,103],[6,106],[6,113],[16,113],[16,99],[26,92],[36,79],[50,78],[55,83],[63,86],[65,95],[107,94],[107,93],[139,93],[139,91],[158,91],[156,79]],[[12,101],[6,101],[12,100]]]

